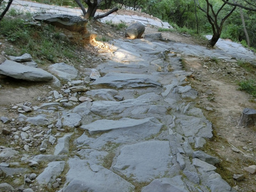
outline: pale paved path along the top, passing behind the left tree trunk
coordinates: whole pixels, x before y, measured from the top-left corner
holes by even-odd
[[[5,0],[6,1],[6,0]],[[29,1],[22,1],[22,0],[14,0],[11,8],[14,8],[16,10],[30,12],[30,13],[59,13],[59,14],[70,14],[70,15],[82,15],[83,12],[81,9],[71,9],[67,7],[62,6],[56,6],[56,5],[47,5],[47,4],[41,4],[36,2],[29,2]],[[96,12],[95,15],[102,14],[101,12]],[[111,21],[113,23],[119,23],[119,22],[134,22],[139,21],[143,23],[144,25],[153,25],[157,27],[162,28],[172,28],[168,22],[163,22],[159,19],[150,19],[145,17],[140,17],[138,15],[121,15],[112,13],[108,15],[108,17],[102,18],[102,22]]]

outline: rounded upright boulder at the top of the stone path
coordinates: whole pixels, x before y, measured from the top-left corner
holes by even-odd
[[[141,22],[135,22],[125,29],[125,37],[140,38],[144,31],[145,26]]]

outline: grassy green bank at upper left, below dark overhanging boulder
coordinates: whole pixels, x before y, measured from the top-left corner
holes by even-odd
[[[56,32],[53,26],[29,25],[27,21],[31,19],[30,14],[19,15],[19,17],[14,18],[8,17],[9,15],[6,15],[0,22],[0,34],[7,41],[19,47],[19,51],[7,48],[5,50],[7,54],[30,53],[34,58],[51,62],[56,62],[59,57],[67,59],[75,57],[73,45],[69,43],[68,39]]]

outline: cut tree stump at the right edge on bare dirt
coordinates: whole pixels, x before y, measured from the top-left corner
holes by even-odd
[[[256,125],[256,110],[245,108],[238,121],[239,126],[255,126]]]

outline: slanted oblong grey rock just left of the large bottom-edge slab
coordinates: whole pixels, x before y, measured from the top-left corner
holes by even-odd
[[[54,183],[56,178],[62,173],[64,170],[65,161],[57,161],[51,162],[47,165],[44,171],[38,175],[36,178],[39,184],[47,184]]]

